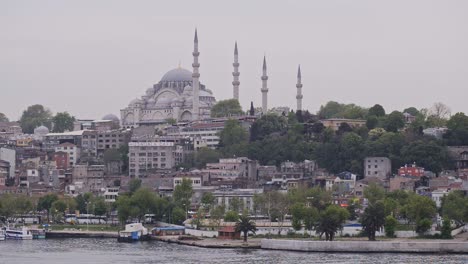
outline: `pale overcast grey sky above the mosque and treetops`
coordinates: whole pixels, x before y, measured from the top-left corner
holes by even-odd
[[[169,70],[191,70],[198,28],[200,82],[232,97],[239,47],[240,103],[269,107],[333,100],[387,112],[448,105],[468,113],[466,0],[0,0],[0,112],[27,106],[102,118]]]

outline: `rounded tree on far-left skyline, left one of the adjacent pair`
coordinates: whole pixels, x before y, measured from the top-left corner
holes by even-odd
[[[44,106],[36,104],[29,106],[23,111],[20,118],[20,125],[24,133],[32,134],[34,128],[44,125],[50,129],[51,127],[51,112]]]

